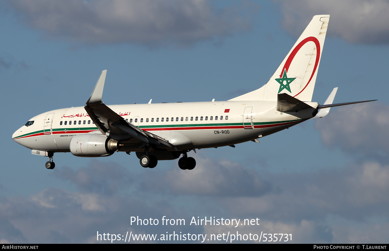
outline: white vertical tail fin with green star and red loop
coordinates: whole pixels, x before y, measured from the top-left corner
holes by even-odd
[[[277,71],[261,88],[230,100],[277,101],[277,94],[287,93],[301,101],[312,100],[329,15],[312,18]]]

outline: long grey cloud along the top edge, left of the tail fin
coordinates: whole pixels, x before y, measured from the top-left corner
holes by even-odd
[[[26,24],[90,44],[186,46],[250,28],[254,4],[216,10],[205,0],[9,1]]]

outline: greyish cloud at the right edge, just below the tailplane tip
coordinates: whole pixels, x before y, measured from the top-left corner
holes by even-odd
[[[378,102],[331,110],[315,124],[326,145],[340,146],[354,156],[385,161],[389,152],[388,127],[389,106]]]

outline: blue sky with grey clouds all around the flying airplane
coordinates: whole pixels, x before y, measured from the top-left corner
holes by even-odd
[[[387,243],[388,10],[379,0],[3,1],[0,242],[238,230],[292,234],[294,243]],[[258,89],[317,14],[331,18],[313,101],[334,87],[336,103],[378,101],[331,108],[259,144],[191,152],[191,172],[176,160],[144,169],[125,153],[56,153],[47,170],[46,158],[11,139],[37,114],[84,105],[105,69],[103,101],[112,105],[218,101]],[[186,225],[134,226],[131,216]],[[193,226],[193,216],[260,225]]]

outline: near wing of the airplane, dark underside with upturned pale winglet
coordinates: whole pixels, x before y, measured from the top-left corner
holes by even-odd
[[[84,106],[86,112],[97,128],[104,135],[109,134],[109,137],[120,141],[124,145],[137,146],[151,146],[154,149],[177,151],[177,148],[150,132],[144,131],[135,125],[127,122],[123,117],[111,110],[102,102],[103,88],[105,82],[105,75],[107,70],[104,70],[98,79],[95,89]]]

